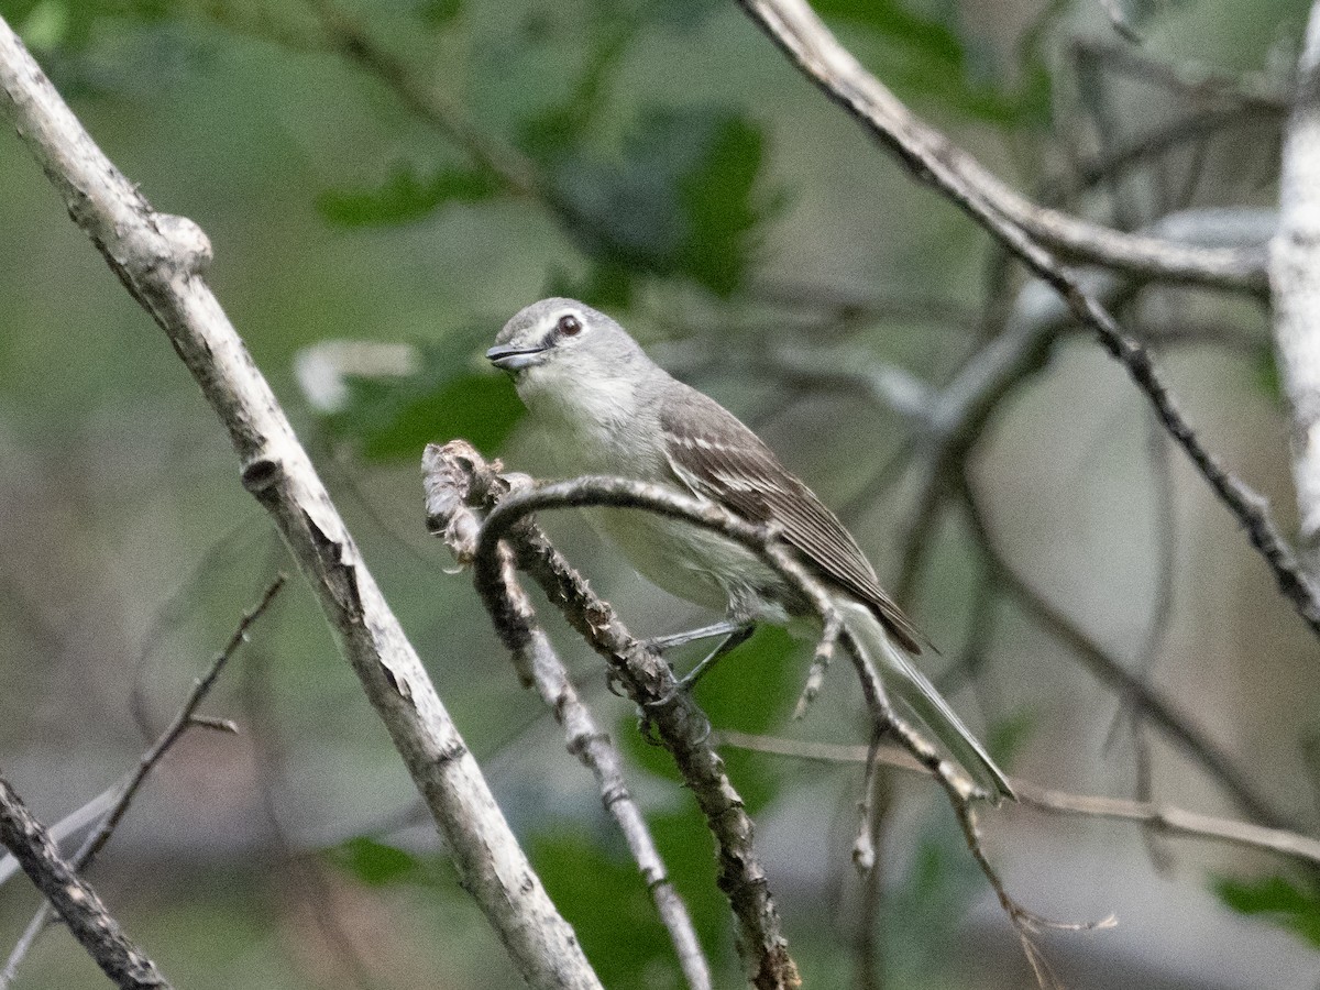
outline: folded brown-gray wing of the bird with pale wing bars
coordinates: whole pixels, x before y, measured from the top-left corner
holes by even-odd
[[[751,521],[777,524],[820,577],[870,606],[906,649],[921,652],[920,634],[880,587],[851,533],[738,417],[682,385],[661,405],[660,428],[680,482]]]

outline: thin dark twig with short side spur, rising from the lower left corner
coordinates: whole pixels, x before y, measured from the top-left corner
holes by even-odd
[[[211,688],[215,686],[215,681],[220,676],[220,671],[224,669],[230,657],[232,657],[235,651],[238,651],[238,648],[247,642],[248,630],[251,630],[253,623],[256,623],[265,610],[271,607],[275,597],[280,593],[280,589],[284,587],[285,581],[286,578],[284,574],[276,574],[275,579],[267,586],[265,593],[257,603],[243,614],[243,618],[239,620],[234,634],[224,644],[224,648],[215,655],[210,665],[206,668],[206,672],[193,682],[193,690],[189,692],[189,696],[183,701],[183,706],[178,710],[178,714],[174,715],[174,719],[165,727],[165,731],[156,738],[156,742],[152,743],[150,748],[148,748],[147,752],[144,752],[137,760],[137,766],[133,768],[128,780],[124,781],[123,787],[120,787],[119,793],[111,803],[110,809],[102,817],[100,824],[87,836],[87,838],[83,840],[82,846],[78,847],[78,851],[74,853],[73,858],[69,861],[74,870],[84,873],[92,862],[95,862],[96,855],[106,847],[106,843],[115,833],[119,822],[123,821],[124,814],[128,813],[128,808],[137,796],[139,788],[141,788],[148,775],[150,775],[150,772],[156,768],[156,764],[158,764],[165,754],[173,748],[174,743],[183,737],[183,733],[194,725],[205,725],[207,727],[214,727],[216,725],[214,719],[203,719],[198,717],[195,714],[197,709],[201,706],[202,701],[206,700]],[[224,722],[220,725],[226,731],[235,730],[232,722]],[[13,952],[9,953],[9,958],[5,961],[4,972],[0,973],[0,990],[5,990],[5,987],[13,982],[18,966],[22,964],[24,957],[41,935],[49,916],[50,902],[46,902],[37,909],[36,915],[33,915],[32,921],[29,921],[28,927],[24,929],[22,937],[18,939]]]

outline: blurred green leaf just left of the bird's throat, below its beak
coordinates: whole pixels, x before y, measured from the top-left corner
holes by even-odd
[[[490,335],[479,327],[422,347],[408,376],[348,376],[347,403],[323,417],[331,436],[355,441],[368,461],[417,458],[426,444],[455,437],[494,454],[523,404],[503,375],[478,370]]]

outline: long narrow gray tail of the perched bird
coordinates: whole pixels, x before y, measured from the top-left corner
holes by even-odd
[[[846,599],[836,601],[836,606],[847,631],[879,671],[884,689],[925,723],[953,759],[993,800],[997,803],[1003,797],[1012,800],[1012,788],[1003,771],[962,725],[962,719],[949,708],[949,702],[940,697],[935,685],[912,665],[902,649],[894,645],[871,610],[859,602]]]

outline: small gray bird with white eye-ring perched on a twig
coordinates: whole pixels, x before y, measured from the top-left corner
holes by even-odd
[[[830,591],[886,689],[987,795],[1014,796],[990,755],[906,656],[921,652],[919,634],[857,541],[733,413],[672,378],[614,319],[574,300],[541,300],[521,310],[486,356],[512,375],[565,473],[668,484],[750,521],[776,524]],[[733,624],[785,624],[812,614],[774,569],[727,537],[638,510],[590,515],[640,574],[723,611]]]

